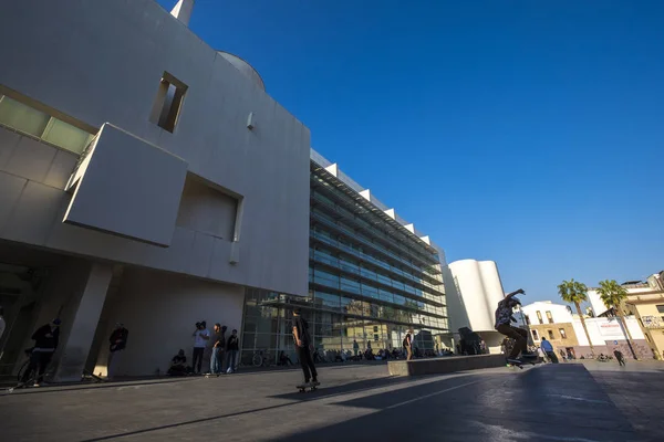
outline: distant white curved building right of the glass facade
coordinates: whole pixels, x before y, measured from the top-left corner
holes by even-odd
[[[505,297],[498,266],[494,261],[460,260],[443,269],[449,330],[458,338],[458,329],[478,333],[491,352],[500,351],[504,336],[495,330],[495,313]]]

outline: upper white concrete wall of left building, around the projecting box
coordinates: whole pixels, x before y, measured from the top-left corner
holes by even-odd
[[[189,173],[242,199],[243,210],[235,245],[178,227],[169,249],[160,250],[63,225],[70,200],[63,188],[75,156],[0,130],[0,239],[307,293],[307,127],[152,0],[33,0],[2,8],[0,41],[11,44],[0,44],[0,86],[53,115],[96,128],[108,122],[165,149],[185,160]],[[188,86],[174,133],[151,120],[164,72]],[[231,254],[239,256],[235,265]]]

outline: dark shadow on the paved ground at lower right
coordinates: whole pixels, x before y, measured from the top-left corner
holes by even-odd
[[[419,400],[387,392],[340,402],[378,411],[277,441],[664,440],[664,434],[640,435],[582,365],[541,366],[430,394],[446,387],[444,380],[409,388],[408,396],[424,397]]]

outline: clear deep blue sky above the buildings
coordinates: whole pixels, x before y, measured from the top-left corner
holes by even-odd
[[[190,28],[529,302],[664,269],[662,23],[662,1],[197,0]]]

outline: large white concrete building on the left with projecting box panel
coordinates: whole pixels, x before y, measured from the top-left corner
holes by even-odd
[[[54,317],[58,379],[103,371],[116,322],[145,375],[198,320],[241,330],[248,287],[308,294],[309,129],[191,3],[2,3],[2,373]]]

